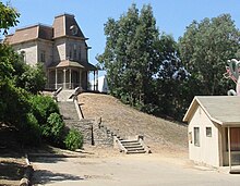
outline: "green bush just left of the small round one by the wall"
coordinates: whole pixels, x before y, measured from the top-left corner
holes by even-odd
[[[58,113],[51,113],[47,119],[47,124],[41,126],[43,136],[53,145],[60,145],[63,139],[64,123]]]

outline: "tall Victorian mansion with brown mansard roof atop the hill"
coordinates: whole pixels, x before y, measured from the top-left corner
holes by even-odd
[[[88,73],[97,69],[88,62],[87,38],[72,14],[55,17],[52,26],[36,24],[5,37],[27,64],[44,63],[48,89],[87,89]]]

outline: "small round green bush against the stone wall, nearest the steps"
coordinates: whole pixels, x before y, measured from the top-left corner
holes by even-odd
[[[76,150],[83,147],[83,135],[76,129],[70,129],[64,139],[65,148],[69,150]]]

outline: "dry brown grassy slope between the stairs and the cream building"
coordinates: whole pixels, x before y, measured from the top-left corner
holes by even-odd
[[[187,150],[187,126],[139,112],[109,95],[81,94],[79,101],[85,119],[101,117],[122,137],[144,135],[153,152]]]

